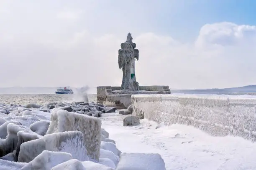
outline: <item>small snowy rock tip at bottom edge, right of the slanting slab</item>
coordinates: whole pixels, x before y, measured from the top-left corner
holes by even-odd
[[[68,160],[64,163],[56,165],[51,170],[87,170],[82,165],[82,162],[76,159]],[[100,169],[99,169],[100,170]]]

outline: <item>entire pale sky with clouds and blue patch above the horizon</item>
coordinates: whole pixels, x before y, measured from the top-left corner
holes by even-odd
[[[139,50],[139,85],[256,84],[256,1],[0,0],[0,87],[120,86],[118,49]]]

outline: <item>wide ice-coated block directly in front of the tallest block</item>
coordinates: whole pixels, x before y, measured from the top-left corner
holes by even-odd
[[[43,150],[66,152],[74,159],[89,160],[82,133],[69,131],[45,135],[43,138],[23,143],[20,145],[18,162],[28,163]]]

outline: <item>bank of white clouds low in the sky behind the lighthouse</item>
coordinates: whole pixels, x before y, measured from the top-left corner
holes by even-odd
[[[118,49],[126,35],[87,29],[8,35],[0,40],[2,87],[121,84]],[[133,35],[140,55],[136,79],[140,85],[170,88],[256,84],[255,35],[255,26],[227,22],[203,25],[192,43],[141,32]]]

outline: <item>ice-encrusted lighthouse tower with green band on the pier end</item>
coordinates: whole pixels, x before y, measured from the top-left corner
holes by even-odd
[[[123,70],[121,90],[139,90],[135,76],[135,59],[138,60],[138,49],[135,49],[136,44],[132,40],[133,37],[129,32],[127,40],[121,43],[121,49],[118,50],[118,65]]]

